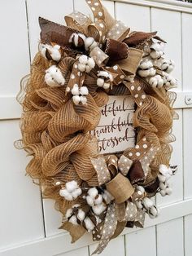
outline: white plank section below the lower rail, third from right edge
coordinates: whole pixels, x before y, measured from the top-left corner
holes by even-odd
[[[155,227],[138,229],[125,236],[126,255],[156,255]],[[165,254],[166,255],[166,254]],[[164,255],[164,256],[165,256]]]

